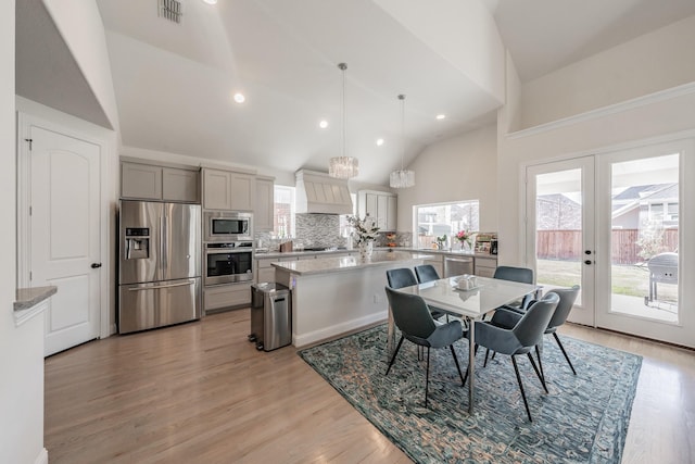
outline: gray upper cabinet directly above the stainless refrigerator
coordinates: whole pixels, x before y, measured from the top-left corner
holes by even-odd
[[[198,168],[121,163],[121,198],[200,203]]]

